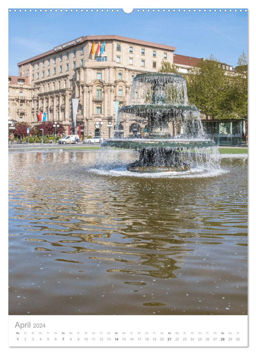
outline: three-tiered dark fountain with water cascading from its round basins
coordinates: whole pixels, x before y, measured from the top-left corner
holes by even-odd
[[[117,128],[125,123],[131,134],[122,137],[123,131]],[[130,105],[119,109],[114,137],[102,146],[138,150],[139,159],[126,169],[140,173],[190,171],[192,156],[200,149],[216,147],[207,139],[199,110],[188,104],[184,78],[163,73],[134,78]]]

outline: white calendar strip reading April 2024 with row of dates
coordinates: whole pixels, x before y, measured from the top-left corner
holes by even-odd
[[[9,345],[247,346],[247,316],[9,316]]]

